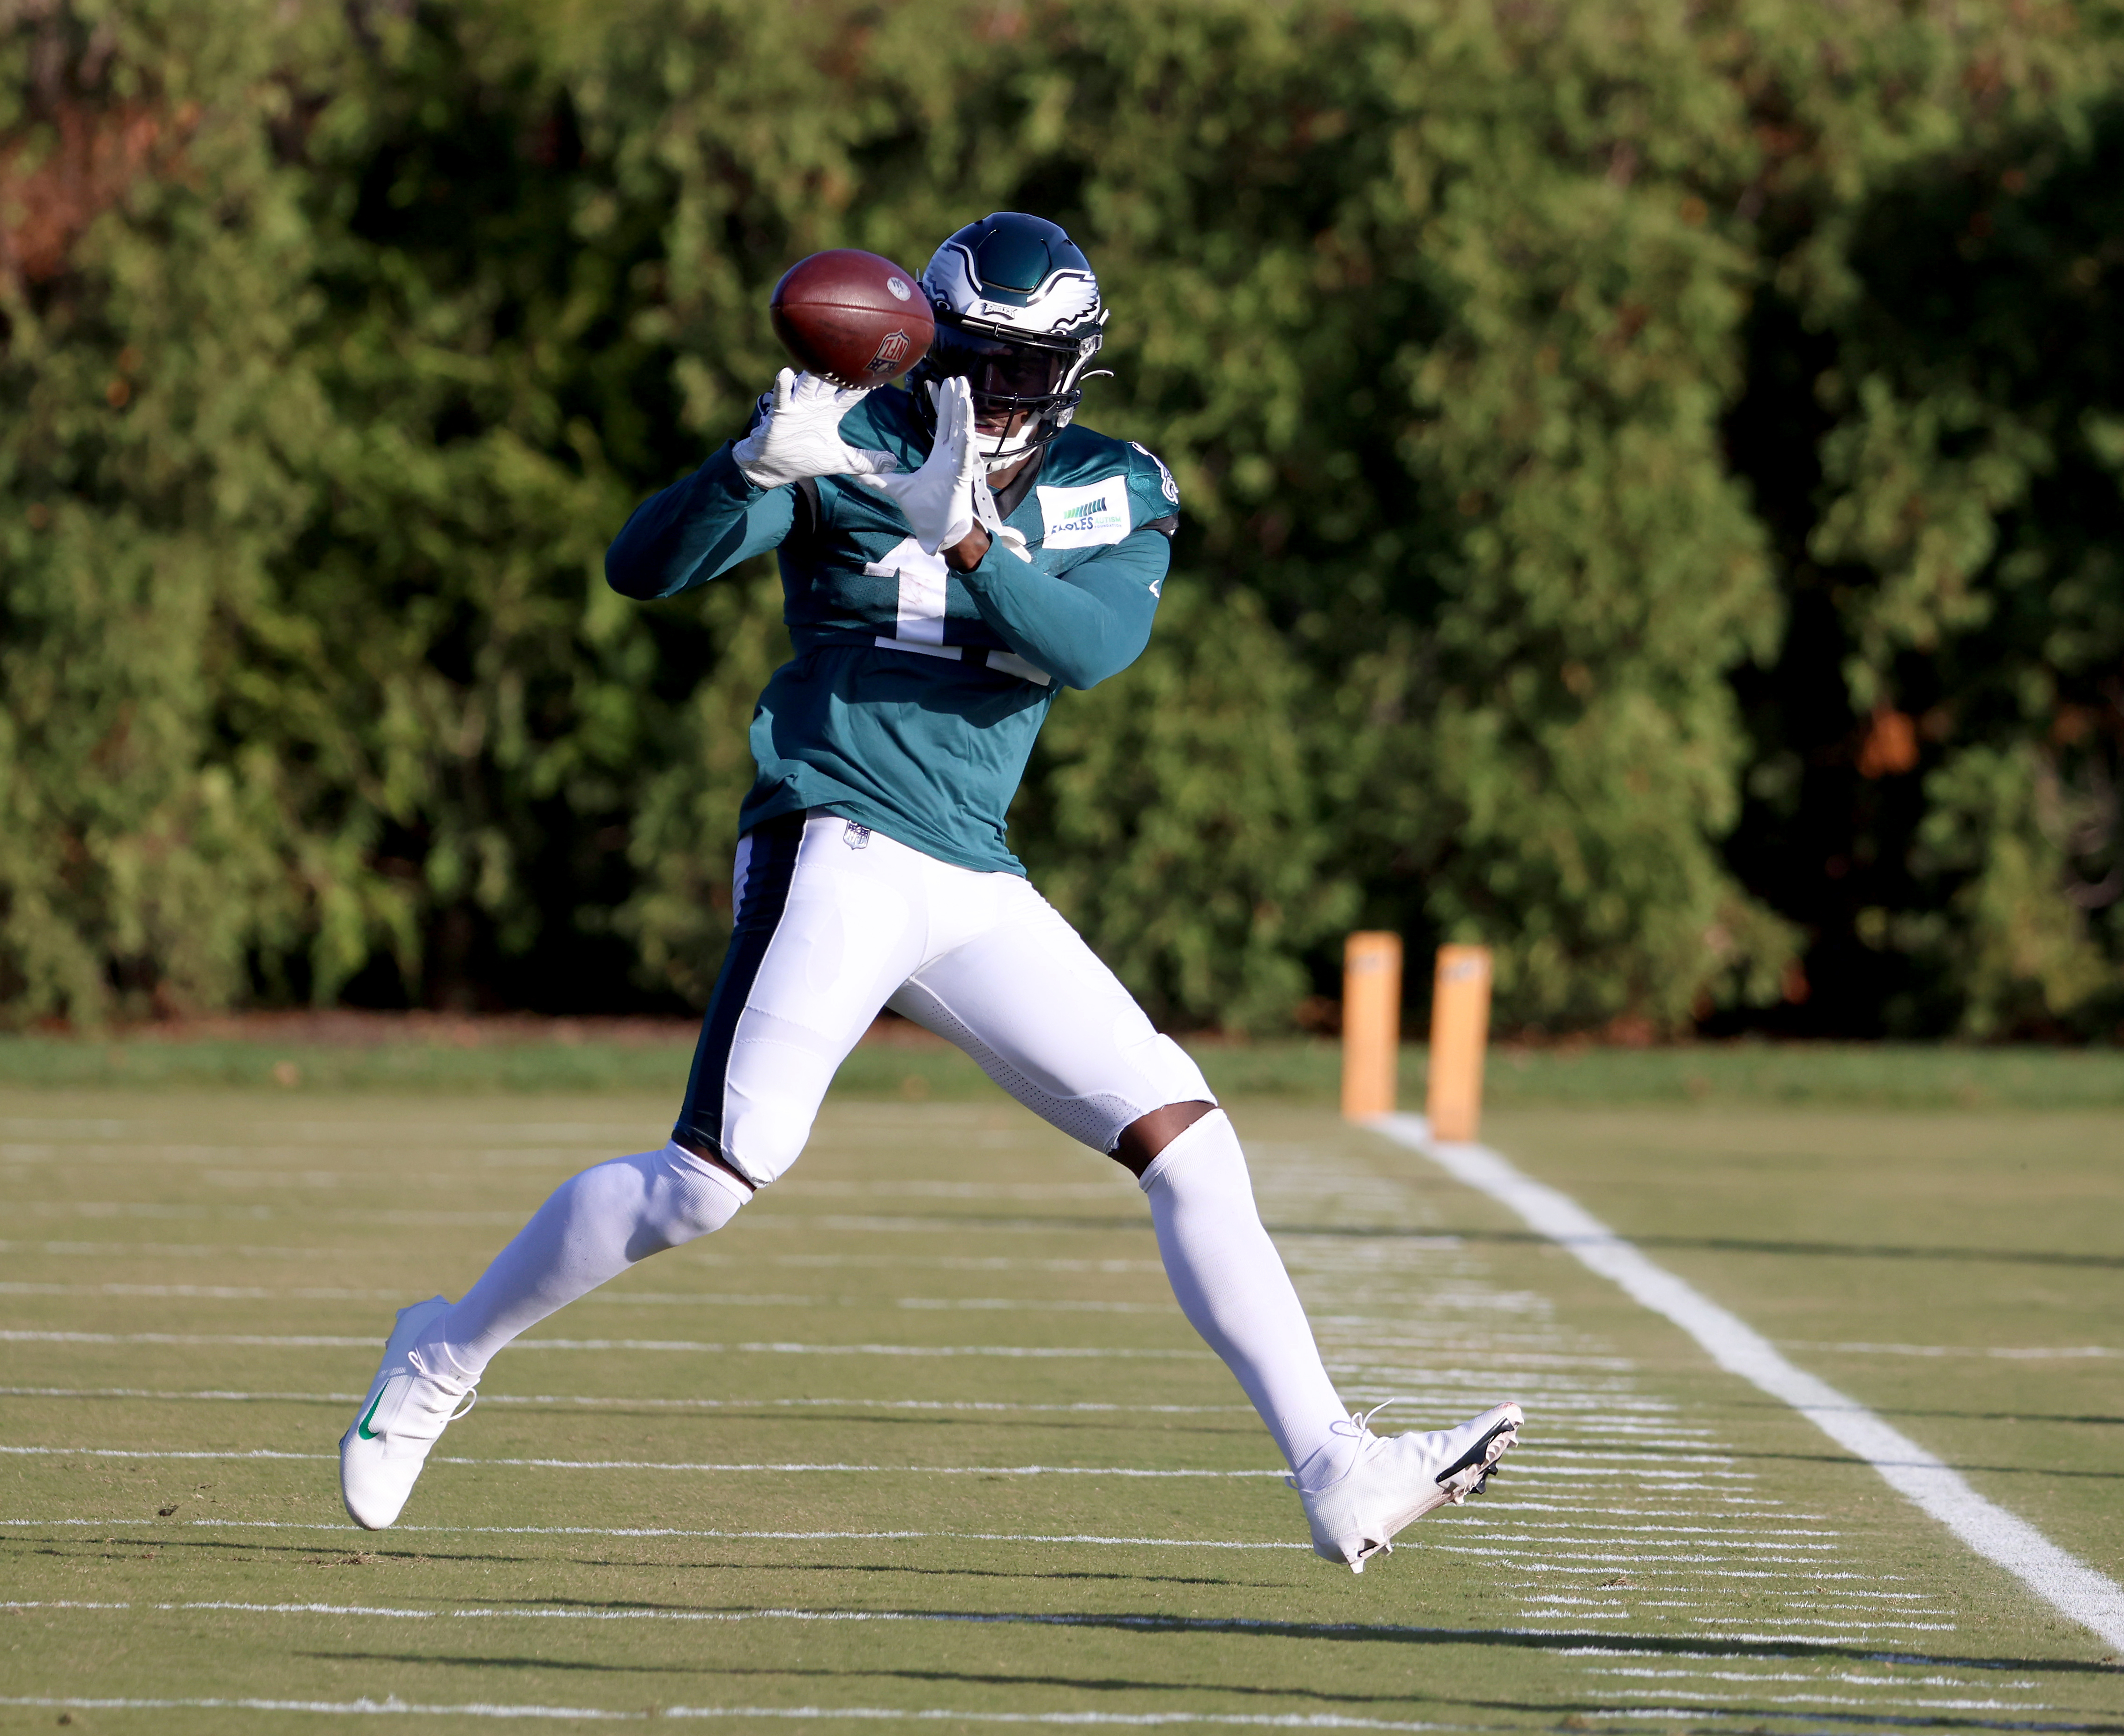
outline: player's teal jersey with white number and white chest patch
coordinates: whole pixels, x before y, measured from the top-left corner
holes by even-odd
[[[898,386],[864,397],[841,435],[905,469],[930,448]],[[627,596],[780,554],[796,654],[752,713],[741,830],[826,809],[962,868],[1024,872],[1003,834],[1032,739],[1062,688],[1143,654],[1179,514],[1151,452],[1090,429],[1062,429],[1028,469],[996,505],[1032,560],[998,541],[971,573],[924,554],[890,494],[847,475],[758,488],[729,446],[627,520],[605,554]]]

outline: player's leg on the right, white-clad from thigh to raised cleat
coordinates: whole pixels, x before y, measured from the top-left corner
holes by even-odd
[[[1026,1108],[1136,1174],[1189,1324],[1291,1466],[1313,1547],[1357,1573],[1402,1526],[1480,1492],[1517,1439],[1512,1403],[1381,1439],[1344,1413],[1253,1203],[1247,1159],[1200,1070],[1030,887],[892,997]]]

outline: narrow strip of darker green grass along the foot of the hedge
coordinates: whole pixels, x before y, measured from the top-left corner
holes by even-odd
[[[482,1036],[444,1027],[370,1042],[304,1038],[168,1038],[155,1034],[0,1036],[0,1087],[338,1091],[665,1093],[675,1095],[692,1034],[671,1025],[631,1040],[595,1025]],[[588,1034],[584,1034],[588,1031]],[[1325,1038],[1192,1040],[1211,1087],[1228,1097],[1334,1104],[1340,1048]],[[1402,1053],[1402,1095],[1421,1101],[1425,1051]],[[841,1097],[988,1101],[990,1082],[956,1048],[862,1044],[835,1080]],[[1954,1048],[1946,1044],[1691,1044],[1680,1048],[1491,1051],[1495,1108],[1610,1104],[1820,1104],[1909,1110],[2124,1108],[2124,1051]]]

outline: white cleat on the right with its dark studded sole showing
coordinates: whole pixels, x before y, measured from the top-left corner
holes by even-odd
[[[1504,1403],[1457,1428],[1381,1437],[1370,1422],[1383,1409],[1374,1405],[1351,1418],[1357,1456],[1349,1471],[1319,1490],[1298,1490],[1313,1526],[1313,1553],[1347,1562],[1351,1573],[1364,1573],[1372,1556],[1391,1556],[1402,1526],[1483,1494],[1497,1460],[1519,1441],[1523,1420],[1519,1405]],[[1298,1488],[1296,1477],[1285,1481]]]

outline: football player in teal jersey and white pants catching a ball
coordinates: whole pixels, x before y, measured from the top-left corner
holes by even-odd
[[[671,1140],[565,1182],[455,1307],[399,1314],[340,1441],[346,1509],[389,1526],[495,1352],[782,1176],[892,1008],[1138,1178],[1172,1292],[1268,1424],[1315,1549],[1361,1573],[1480,1490],[1521,1411],[1381,1437],[1342,1407],[1202,1072],[1011,855],[1047,709],[1149,639],[1179,488],[1073,424],[1107,308],[1062,229],[971,223],[920,293],[937,340],[907,390],[784,369],[743,437],[612,543],[607,577],[639,598],[780,554],[796,654],[752,722],[735,932]]]

